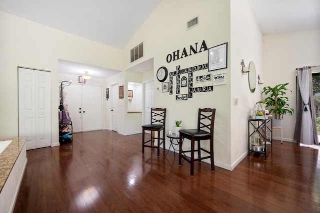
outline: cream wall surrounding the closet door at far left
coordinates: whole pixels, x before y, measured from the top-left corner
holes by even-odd
[[[51,144],[58,143],[58,59],[123,70],[122,50],[1,11],[0,38],[1,138],[18,134],[18,66],[51,71]]]

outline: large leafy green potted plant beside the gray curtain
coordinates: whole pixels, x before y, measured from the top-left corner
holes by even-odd
[[[287,103],[288,97],[285,96],[286,92],[292,92],[286,88],[286,85],[288,84],[289,83],[277,84],[274,87],[266,86],[263,87],[263,91],[261,92],[261,94],[264,93],[266,96],[264,101],[266,107],[270,107],[269,113],[274,114],[274,119],[272,121],[273,127],[281,127],[283,115],[292,115],[294,112],[294,109],[290,108],[289,104]]]

